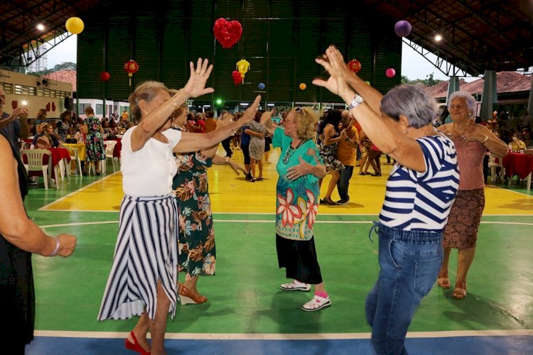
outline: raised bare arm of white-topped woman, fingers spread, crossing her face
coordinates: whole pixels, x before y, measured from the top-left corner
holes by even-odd
[[[154,111],[149,112],[137,126],[137,129],[131,133],[132,151],[139,151],[139,149],[143,148],[144,144],[154,136],[154,133],[165,124],[176,107],[180,107],[188,98],[199,97],[215,91],[212,87],[205,87],[205,82],[207,82],[212,71],[212,65],[208,66],[207,59],[198,58],[196,68],[193,62],[190,62],[189,66],[190,77],[185,87],[179,89],[171,99],[154,109]],[[205,146],[191,149],[190,151],[198,151],[200,148],[205,148]]]

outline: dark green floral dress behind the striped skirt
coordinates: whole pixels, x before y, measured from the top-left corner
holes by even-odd
[[[173,189],[178,200],[178,264],[189,275],[215,275],[215,231],[208,191],[212,159],[202,153],[176,155]]]

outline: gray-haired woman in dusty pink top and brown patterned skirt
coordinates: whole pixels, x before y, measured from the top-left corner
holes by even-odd
[[[507,154],[507,145],[482,124],[475,124],[475,99],[468,92],[453,92],[450,96],[452,123],[439,126],[456,144],[459,164],[459,190],[444,227],[444,256],[438,273],[438,286],[450,288],[448,261],[451,249],[458,249],[456,288],[453,297],[466,296],[466,274],[475,254],[478,228],[485,208],[483,158],[488,149],[499,156]]]

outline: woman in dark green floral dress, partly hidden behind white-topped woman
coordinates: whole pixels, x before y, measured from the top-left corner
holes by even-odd
[[[173,129],[187,131],[187,109],[178,108],[173,114]],[[229,124],[231,119],[219,120]],[[228,164],[238,174],[244,168],[229,157],[216,155],[218,144],[202,151],[176,154],[178,173],[174,176],[173,189],[178,200],[179,236],[178,265],[185,271],[185,283],[180,284],[181,304],[200,304],[208,297],[196,289],[198,276],[215,275],[215,231],[212,223],[211,202],[208,190],[208,168],[212,164]]]

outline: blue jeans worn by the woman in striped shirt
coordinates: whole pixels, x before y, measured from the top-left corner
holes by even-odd
[[[379,355],[403,355],[416,307],[441,268],[442,232],[404,231],[382,224],[378,229],[379,277],[365,304],[372,346]]]

